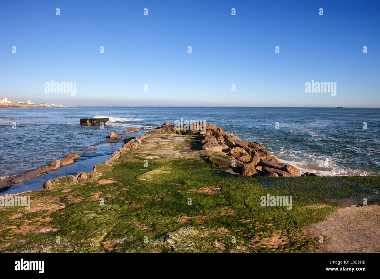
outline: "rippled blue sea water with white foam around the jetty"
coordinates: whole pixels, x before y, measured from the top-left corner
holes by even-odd
[[[105,129],[81,126],[79,118],[84,117],[110,122]],[[303,172],[380,175],[378,108],[46,107],[0,109],[0,177],[6,180],[90,147],[97,148],[85,153],[85,159],[110,155],[120,148],[101,147],[110,132],[181,118],[206,121],[242,140],[260,142]]]

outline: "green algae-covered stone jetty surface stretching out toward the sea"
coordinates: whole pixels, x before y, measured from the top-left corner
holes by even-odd
[[[0,252],[318,252],[303,229],[379,191],[379,177],[231,175],[230,159],[201,154],[197,136],[150,134],[98,164],[100,177],[22,194],[31,210],[0,208]],[[268,193],[292,196],[292,209],[260,206]]]

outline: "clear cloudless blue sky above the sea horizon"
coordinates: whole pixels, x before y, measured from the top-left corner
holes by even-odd
[[[0,95],[65,105],[380,107],[379,12],[379,1],[3,2]],[[50,80],[76,82],[76,95],[45,93]],[[311,80],[336,82],[336,96],[305,93]]]

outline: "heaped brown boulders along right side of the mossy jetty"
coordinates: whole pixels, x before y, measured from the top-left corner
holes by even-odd
[[[166,123],[165,123],[166,124]],[[164,124],[164,125],[165,125]],[[202,124],[202,123],[201,123]],[[258,142],[245,142],[234,135],[229,135],[222,128],[206,124],[206,132],[202,134],[202,150],[217,151],[234,160],[237,172],[247,176],[265,177],[299,177],[318,176],[315,173],[301,172],[294,166],[283,164],[269,155]]]

